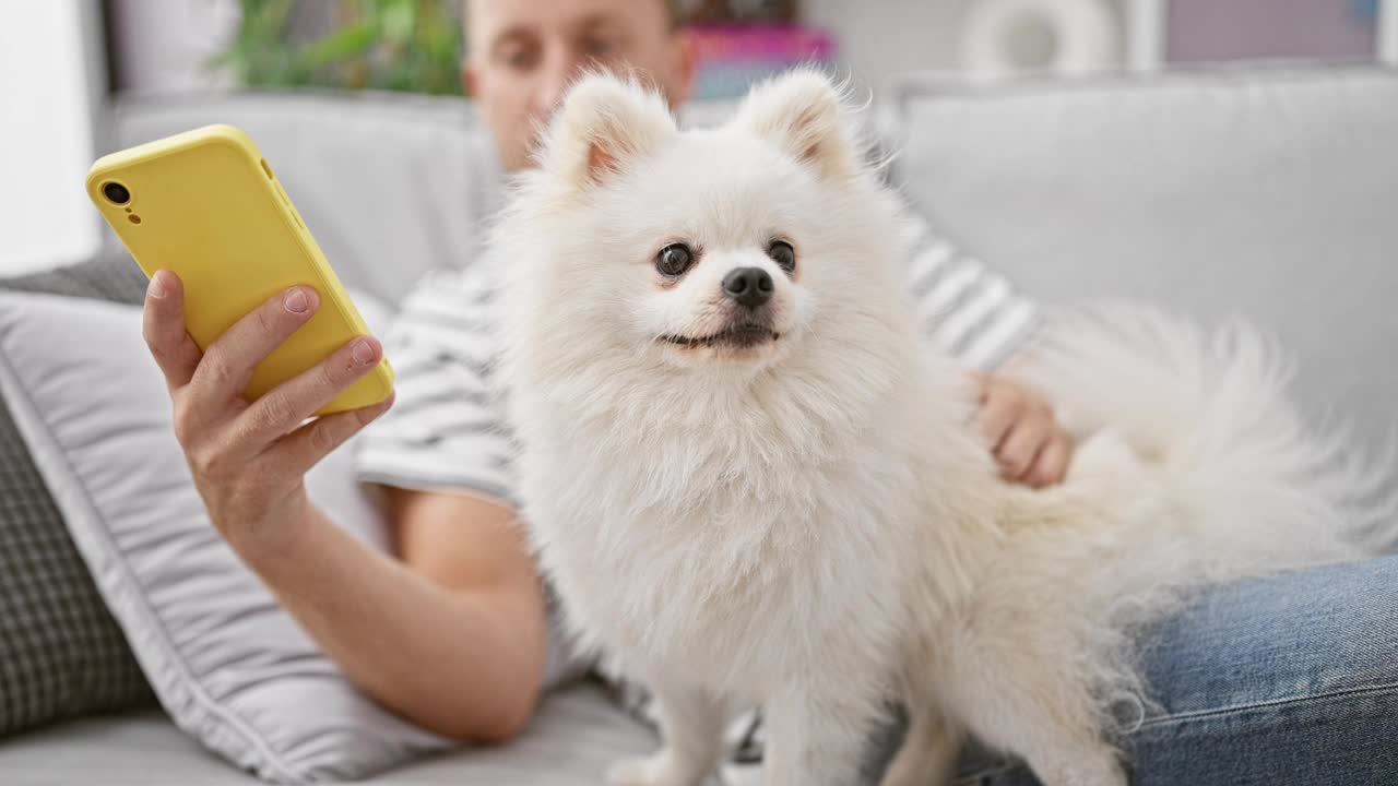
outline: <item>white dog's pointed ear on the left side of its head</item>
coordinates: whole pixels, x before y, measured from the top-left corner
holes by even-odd
[[[587,189],[653,152],[672,134],[675,120],[658,92],[593,73],[563,98],[540,164],[569,186]]]

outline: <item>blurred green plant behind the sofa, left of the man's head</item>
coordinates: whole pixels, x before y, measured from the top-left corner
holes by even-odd
[[[296,34],[308,1],[333,6],[330,31]],[[242,11],[211,63],[242,87],[461,94],[460,0],[242,0]]]

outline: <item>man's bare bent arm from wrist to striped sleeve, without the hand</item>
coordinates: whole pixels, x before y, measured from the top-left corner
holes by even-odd
[[[275,548],[243,548],[361,689],[440,734],[484,743],[534,712],[545,604],[514,513],[485,499],[390,488],[401,562],[308,506]]]

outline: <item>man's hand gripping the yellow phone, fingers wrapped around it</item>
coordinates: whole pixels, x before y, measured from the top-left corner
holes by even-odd
[[[179,277],[159,270],[147,290],[143,333],[169,386],[175,436],[214,526],[239,551],[303,522],[306,471],[393,404],[389,396],[303,425],[379,362],[383,347],[369,336],[256,401],[242,397],[257,362],[305,324],[319,302],[310,287],[278,292],[201,352],[185,331]]]

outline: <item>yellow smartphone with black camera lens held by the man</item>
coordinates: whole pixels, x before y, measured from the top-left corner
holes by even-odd
[[[92,164],[87,192],[147,277],[185,284],[185,322],[200,350],[277,292],[316,288],[320,306],[253,371],[257,399],[369,333],[267,159],[242,130],[215,124]],[[316,414],[376,404],[393,390],[383,358]]]

